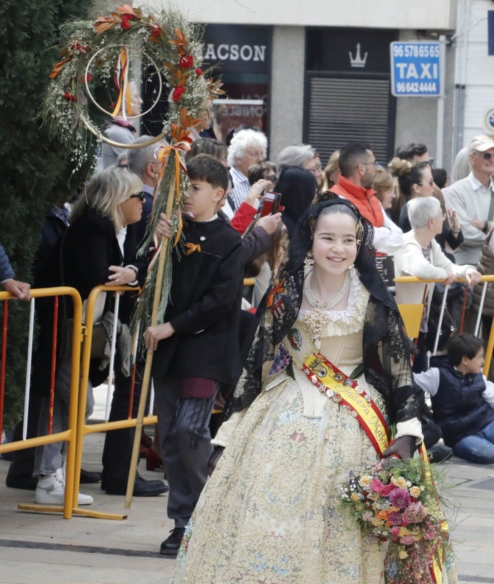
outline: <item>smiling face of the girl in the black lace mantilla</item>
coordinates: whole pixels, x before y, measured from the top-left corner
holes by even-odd
[[[357,253],[356,219],[346,213],[321,215],[312,246],[314,272],[342,276]]]

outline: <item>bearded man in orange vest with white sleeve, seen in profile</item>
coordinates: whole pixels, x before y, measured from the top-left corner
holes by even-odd
[[[379,166],[369,144],[349,142],[340,150],[340,176],[331,187],[344,199],[352,201],[363,217],[374,226],[374,246],[379,253],[393,254],[402,246],[402,230],[386,215],[372,189]]]

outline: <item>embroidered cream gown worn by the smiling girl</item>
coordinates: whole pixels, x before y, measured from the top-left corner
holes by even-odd
[[[347,310],[327,313],[320,352],[347,375],[361,364],[367,303],[355,281]],[[186,529],[174,584],[384,581],[384,549],[363,540],[339,503],[349,471],[377,455],[359,422],[301,371],[314,351],[303,315],[293,325],[301,334],[292,329],[291,344],[284,341],[295,381],[268,378],[236,428]],[[363,376],[359,383],[368,387]]]

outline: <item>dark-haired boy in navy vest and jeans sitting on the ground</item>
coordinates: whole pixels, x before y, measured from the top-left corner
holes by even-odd
[[[447,357],[431,360],[415,381],[431,394],[434,421],[455,456],[488,464],[494,462],[494,383],[481,373],[483,342],[468,333],[452,337]]]

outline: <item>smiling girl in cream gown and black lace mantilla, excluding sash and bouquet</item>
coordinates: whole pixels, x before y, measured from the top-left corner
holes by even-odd
[[[375,269],[372,226],[352,203],[334,197],[304,213],[260,310],[213,440],[217,456],[228,446],[172,581],[379,584],[386,550],[365,540],[339,503],[349,471],[377,461],[377,452],[357,419],[302,370],[318,356],[356,380],[396,426],[384,456],[411,456],[421,438],[420,391],[400,315]]]

